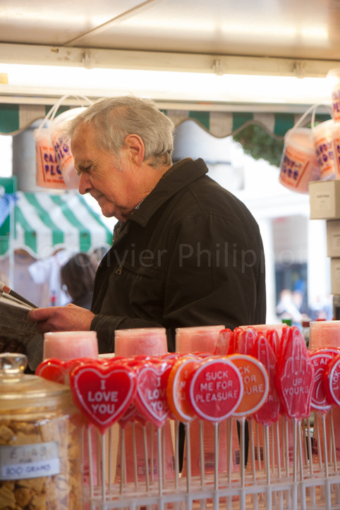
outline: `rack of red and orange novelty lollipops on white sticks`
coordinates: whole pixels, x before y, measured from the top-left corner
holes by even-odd
[[[332,487],[340,483],[333,427],[333,413],[340,407],[340,350],[308,351],[298,328],[288,326],[222,327],[214,335],[212,353],[80,358],[62,366],[44,360],[40,365],[42,377],[70,384],[85,427],[92,431],[87,446],[92,463],[94,451],[99,463],[90,462],[97,475],[85,487],[85,499],[96,505],[104,501],[107,509],[118,502],[134,506],[136,497],[138,505],[162,500],[166,507],[168,502],[185,502],[188,494],[209,502],[213,491],[216,501],[230,509],[243,510],[249,504],[269,508],[269,497],[273,509],[332,509]],[[180,422],[188,435],[181,472]],[[171,423],[174,450],[169,453],[165,431]],[[191,434],[193,425],[198,425],[198,436]],[[110,447],[114,427],[121,431],[118,456]],[[93,430],[102,437],[97,445]],[[212,437],[210,457],[200,445],[205,435]],[[192,459],[198,459],[198,469],[188,462]],[[272,499],[272,491],[277,499]]]

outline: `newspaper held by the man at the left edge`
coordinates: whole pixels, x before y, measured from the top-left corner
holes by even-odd
[[[32,308],[35,307],[24,300],[0,292],[0,336],[8,340],[16,339],[23,344],[28,366],[35,371],[42,362],[44,337],[37,332],[36,324],[26,320],[28,311]]]

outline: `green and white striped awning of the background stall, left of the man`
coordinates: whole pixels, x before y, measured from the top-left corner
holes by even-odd
[[[7,231],[0,229],[0,257],[23,249],[40,259],[59,248],[92,253],[111,245],[111,230],[78,192],[16,195],[12,221],[4,224]]]

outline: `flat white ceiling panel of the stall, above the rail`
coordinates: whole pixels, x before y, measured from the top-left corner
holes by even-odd
[[[339,0],[1,0],[0,40],[340,60]]]

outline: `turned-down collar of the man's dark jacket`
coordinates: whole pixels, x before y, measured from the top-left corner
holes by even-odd
[[[181,159],[164,174],[151,193],[133,210],[126,222],[135,221],[145,226],[154,212],[166,200],[169,200],[188,184],[207,174],[207,171],[207,165],[203,159],[199,158],[195,161],[190,157]]]

